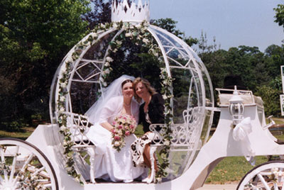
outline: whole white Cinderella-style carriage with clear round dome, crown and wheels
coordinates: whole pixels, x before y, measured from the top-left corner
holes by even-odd
[[[274,123],[266,123],[260,97],[237,87],[216,89],[219,107],[214,107],[212,83],[202,60],[180,38],[148,23],[148,1],[129,6],[126,0],[114,0],[111,11],[112,23],[84,37],[58,67],[50,89],[51,124],[38,125],[26,141],[0,139],[0,189],[193,190],[224,157],[244,156],[253,162],[257,155],[284,154],[284,146],[268,130]],[[167,119],[150,128],[157,137],[151,145],[152,166],[154,155],[162,151],[158,160],[165,167],[160,167],[160,176],[152,169],[151,179],[157,180],[148,183],[96,181],[97,147],[86,135],[92,122],[84,111],[104,96],[114,72],[112,57],[124,40],[142,45],[158,60],[163,84]],[[217,130],[209,138],[217,112]],[[161,130],[155,130],[157,125]],[[237,189],[283,189],[283,169],[281,161],[256,166]]]

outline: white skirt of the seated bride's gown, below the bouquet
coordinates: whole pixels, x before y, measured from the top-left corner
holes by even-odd
[[[87,138],[96,146],[94,158],[96,178],[116,182],[147,177],[145,167],[133,165],[131,144],[136,140],[136,135],[132,134],[124,138],[125,146],[119,152],[111,145],[111,132],[99,124],[89,129]]]

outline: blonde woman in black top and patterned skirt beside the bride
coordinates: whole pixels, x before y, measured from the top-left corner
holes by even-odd
[[[144,103],[139,108],[139,122],[143,124],[144,135],[138,138],[132,145],[133,164],[146,164],[151,169],[150,144],[154,133],[149,126],[154,123],[165,123],[164,100],[146,79],[136,78],[133,82],[134,96],[138,102],[143,99]],[[160,130],[156,128],[156,130]],[[155,171],[158,171],[157,163],[154,162]],[[147,182],[146,178],[143,181]]]

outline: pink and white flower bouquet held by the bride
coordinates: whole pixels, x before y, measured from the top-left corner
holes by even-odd
[[[136,120],[128,114],[121,114],[114,118],[112,125],[114,129],[111,130],[113,138],[111,144],[119,152],[125,146],[124,138],[135,132]]]

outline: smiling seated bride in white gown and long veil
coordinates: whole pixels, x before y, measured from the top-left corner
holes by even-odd
[[[122,75],[114,80],[86,112],[89,121],[94,123],[87,137],[96,146],[95,178],[131,182],[147,175],[144,167],[133,167],[131,143],[136,140],[136,135],[126,136],[125,146],[119,152],[111,145],[111,130],[114,129],[111,123],[116,116],[129,114],[138,123],[139,105],[133,99],[133,79],[134,77]]]

